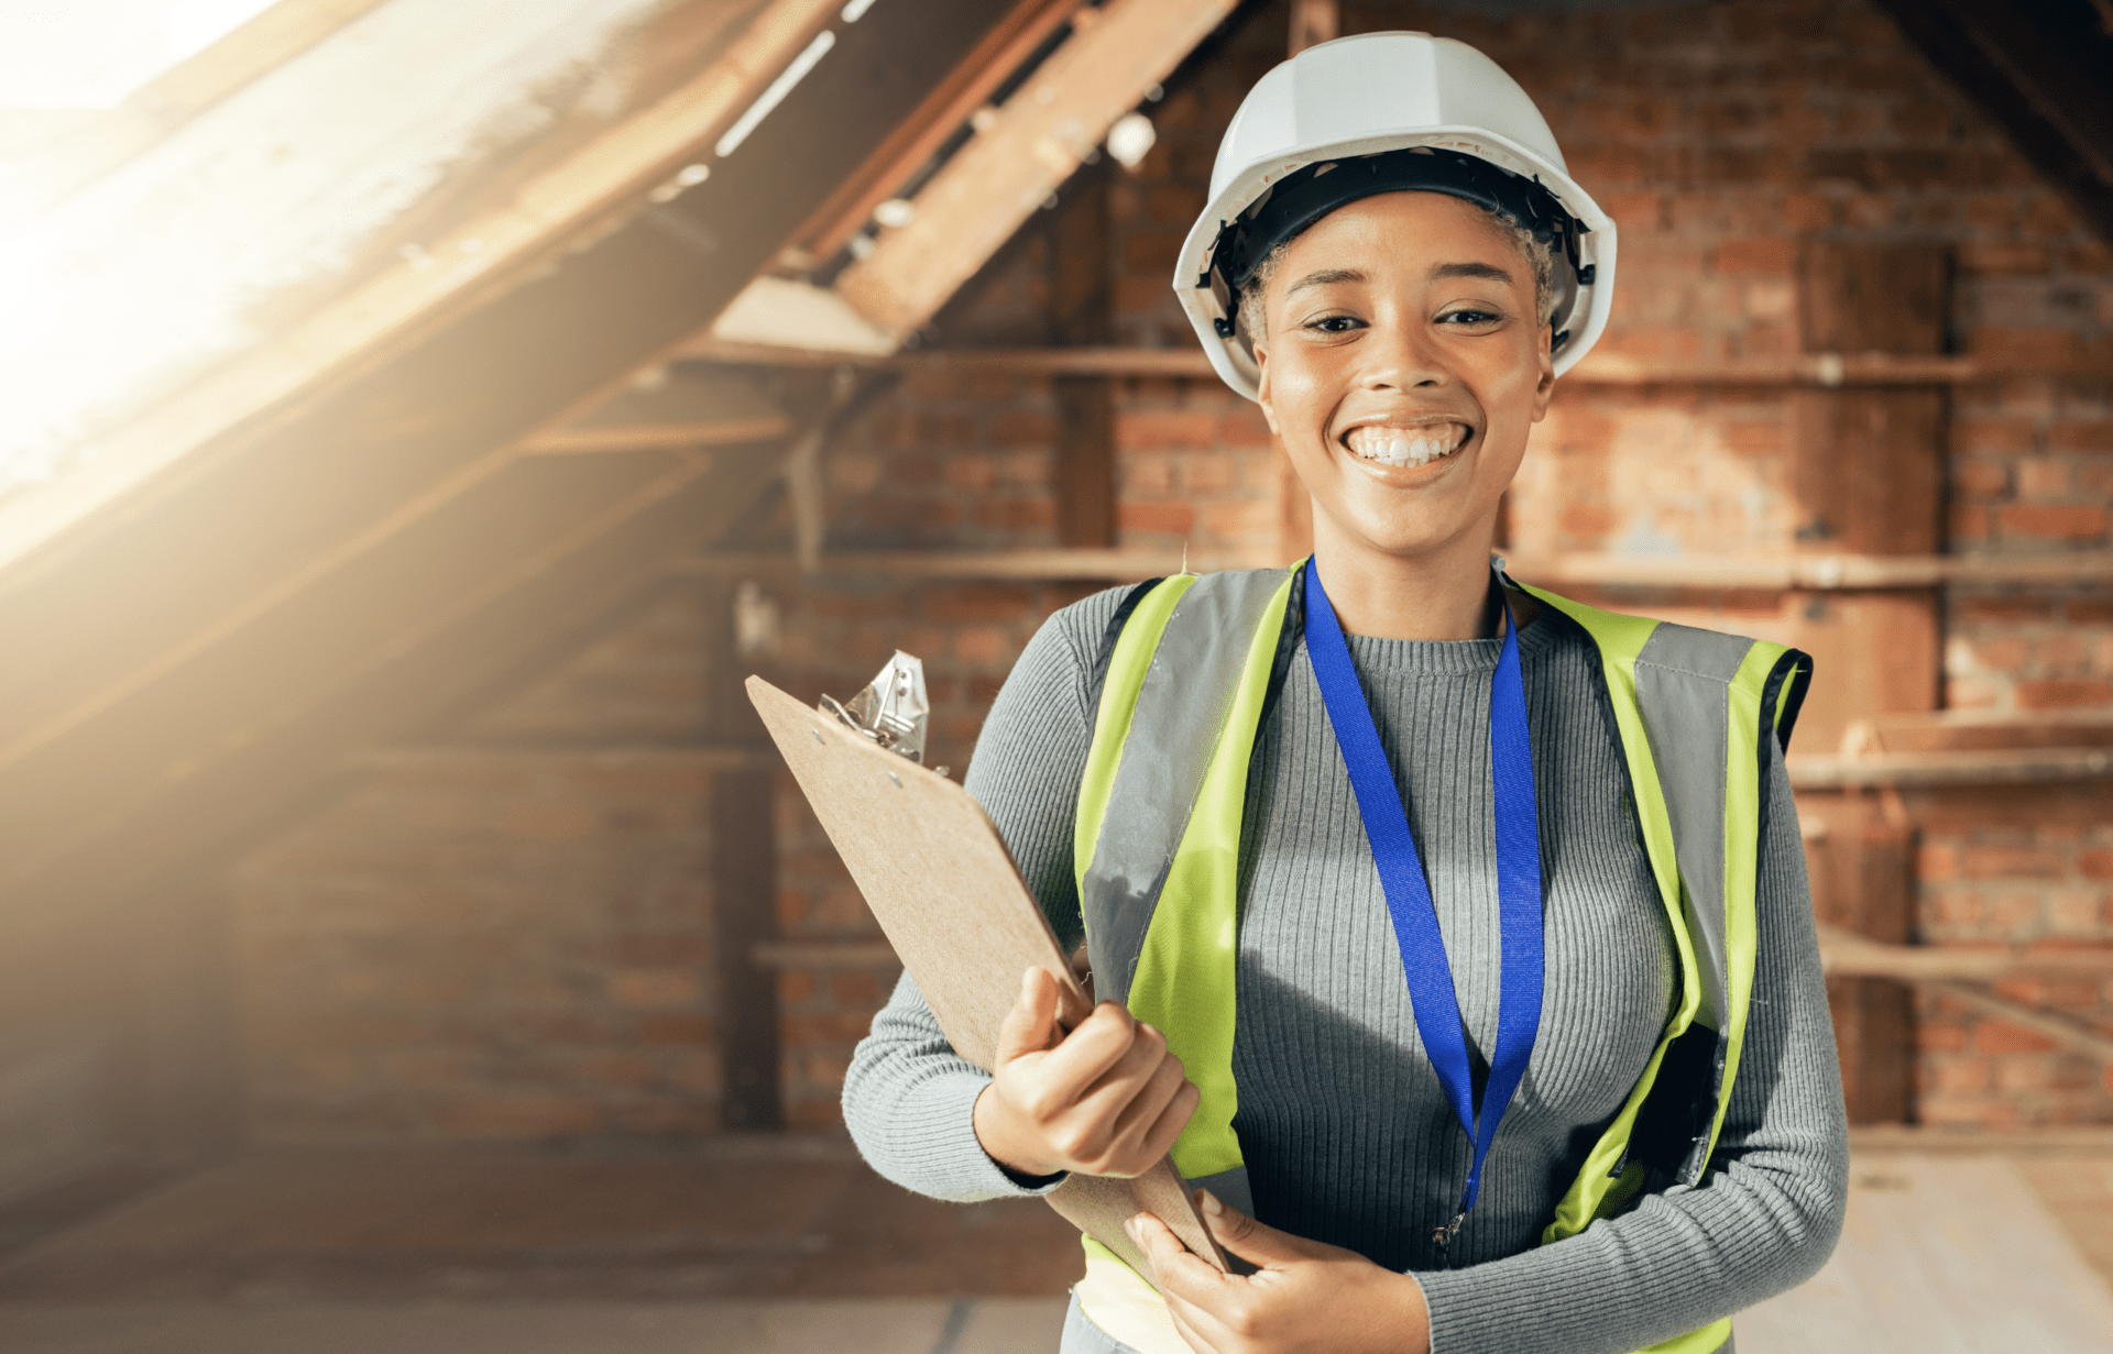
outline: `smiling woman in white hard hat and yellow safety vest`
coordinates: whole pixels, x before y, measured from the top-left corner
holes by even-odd
[[[1847,1130],[1781,739],[1802,655],[1492,572],[1614,226],[1485,57],[1302,53],[1177,289],[1314,505],[1295,570],[1054,615],[970,790],[1103,997],[1029,972],[995,1075],[906,978],[845,1079],[890,1179],[1173,1153],[1253,1274],[1088,1242],[1063,1348],[1731,1350],[1811,1276]],[[1114,997],[1114,1001],[1107,1001]]]

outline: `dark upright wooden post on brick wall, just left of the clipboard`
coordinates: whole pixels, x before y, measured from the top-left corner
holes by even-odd
[[[710,587],[704,600],[714,617],[714,648],[706,655],[706,735],[714,744],[754,744],[775,758],[742,695],[752,659],[735,653],[733,596],[735,587]],[[712,775],[710,813],[721,1122],[735,1132],[769,1132],[784,1128],[778,970],[756,963],[756,951],[778,940],[775,767]]]

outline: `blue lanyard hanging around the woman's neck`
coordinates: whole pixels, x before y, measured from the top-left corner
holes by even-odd
[[[1431,1067],[1439,1073],[1454,1117],[1475,1145],[1475,1162],[1460,1191],[1460,1208],[1441,1225],[1435,1242],[1443,1253],[1481,1189],[1481,1162],[1490,1153],[1496,1126],[1519,1088],[1526,1060],[1540,1033],[1540,824],[1534,809],[1534,750],[1526,737],[1526,676],[1519,672],[1519,625],[1504,602],[1504,653],[1490,678],[1490,773],[1496,786],[1496,908],[1502,936],[1502,980],[1496,1001],[1496,1048],[1490,1050],[1490,1082],[1481,1105],[1469,1082],[1466,1033],[1454,993],[1452,963],[1439,936],[1439,915],[1431,904],[1424,864],[1409,834],[1386,748],[1371,722],[1371,706],[1350,665],[1342,623],[1321,587],[1321,570],[1306,564],[1306,655],[1321,682],[1329,725],[1350,769],[1357,811],[1365,820],[1365,841],[1380,866],[1386,910],[1395,919],[1401,970],[1409,978],[1416,1033]]]

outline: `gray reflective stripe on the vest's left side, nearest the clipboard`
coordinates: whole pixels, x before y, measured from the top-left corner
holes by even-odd
[[[1283,581],[1280,568],[1204,575],[1166,617],[1080,889],[1092,991],[1103,1001],[1130,999],[1137,957],[1247,672],[1255,625]]]

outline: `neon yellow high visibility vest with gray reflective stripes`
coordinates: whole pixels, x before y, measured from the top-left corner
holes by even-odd
[[[1095,995],[1126,1001],[1162,1029],[1202,1092],[1173,1162],[1190,1185],[1249,1212],[1232,1128],[1240,826],[1264,708],[1304,632],[1302,568],[1181,575],[1130,591],[1095,674],[1099,708],[1073,843]],[[1555,1206],[1540,1236],[1549,1244],[1623,1210],[1650,1170],[1686,1187],[1703,1179],[1754,991],[1762,782],[1790,741],[1811,659],[1523,591],[1600,646],[1680,959],[1673,1014]],[[1105,1246],[1084,1244],[1078,1297],[1086,1316],[1145,1354],[1185,1350],[1158,1293]],[[1731,1318],[1652,1354],[1707,1354],[1726,1339]]]

